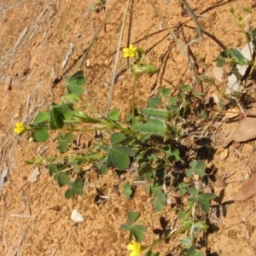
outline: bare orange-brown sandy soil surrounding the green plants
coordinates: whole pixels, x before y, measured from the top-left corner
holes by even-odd
[[[222,50],[214,38],[228,48],[242,47],[246,43],[228,9],[233,6],[237,13],[242,14],[241,8],[252,6],[253,1],[188,2],[199,15],[206,32],[201,44],[193,44],[191,51],[199,72],[211,76],[213,61]],[[160,217],[172,223],[176,216],[170,206],[166,206],[163,212],[154,212],[143,187],[136,189],[131,201],[114,193],[113,183],[118,177],[113,176],[113,172],[99,178],[92,169],[86,174],[90,182],[85,186],[84,195],[74,201],[64,198],[65,189],[59,188],[43,167],[36,183],[26,181],[34,166],[27,166],[24,161],[35,159],[44,150],[44,156],[55,154],[55,143],[53,140],[43,145],[28,143],[27,134],[17,136],[13,133],[15,122],[31,122],[38,110],[46,110],[51,102],[58,102],[65,93],[66,75],[78,70],[85,50],[114,1],[108,1],[106,9],[99,13],[90,12],[90,6],[95,3],[96,0],[81,3],[72,0],[3,0],[0,3],[0,173],[8,169],[0,190],[1,255],[128,255],[128,234],[120,229],[120,224],[127,223],[128,211],[142,214],[141,223],[148,226],[146,244],[154,238],[153,230],[161,228]],[[89,65],[85,63],[82,67],[87,79],[84,100],[102,114],[108,102],[108,84],[125,3],[125,0],[119,1],[90,50],[86,60]],[[159,0],[154,3],[183,44],[198,37],[195,23],[189,15],[183,14],[179,1]],[[131,15],[131,9],[128,15]],[[128,23],[127,19],[122,47],[127,44]],[[248,20],[249,25],[256,27],[254,13]],[[139,79],[138,108],[145,106],[148,97],[161,86],[175,90],[179,84],[194,84],[195,76],[186,59],[148,1],[134,1],[130,42],[146,49],[148,60],[160,68],[159,73]],[[73,44],[73,53],[66,67],[61,68],[70,44]],[[126,72],[125,65],[126,61],[120,56],[111,104],[111,108],[119,108],[122,118],[131,108],[132,93],[132,77]],[[55,84],[51,76],[53,68]],[[205,88],[209,86],[207,83],[203,85]],[[214,86],[208,90],[208,96],[213,92],[216,93]],[[224,203],[235,195],[247,173],[256,172],[253,142],[244,143],[238,149],[239,154],[230,150],[229,156],[221,160],[224,151],[221,143],[236,125],[236,122],[222,121],[221,136],[212,143],[212,160],[207,160],[207,166],[214,166],[216,170],[211,187],[220,197],[218,204],[212,204],[218,208],[223,206],[225,214],[224,218],[215,219],[215,223],[209,218],[211,228],[204,239],[207,244],[198,245],[206,255],[250,256],[256,252],[256,197]],[[83,135],[81,139],[88,143],[92,136]],[[55,137],[54,133],[52,137]],[[131,177],[126,176],[120,179],[119,189],[129,179]],[[110,199],[96,205],[96,188],[102,188],[105,183],[104,195]],[[74,208],[84,217],[83,223],[74,224],[70,219]],[[160,250],[160,255],[178,255],[176,251],[172,252],[175,245],[177,241],[162,242],[154,251]]]

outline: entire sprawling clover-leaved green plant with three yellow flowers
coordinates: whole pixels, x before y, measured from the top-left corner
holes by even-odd
[[[189,85],[180,86],[177,96],[171,96],[171,89],[161,88],[154,97],[148,99],[146,108],[137,109],[137,79],[144,73],[155,73],[157,69],[146,63],[143,49],[132,44],[123,49],[123,54],[125,58],[133,59],[131,114],[125,121],[119,119],[117,108],[113,108],[107,116],[102,116],[84,101],[86,80],[84,71],[79,70],[67,77],[67,94],[61,96],[58,104],[52,103],[48,111],[39,112],[30,124],[16,123],[15,133],[30,132],[30,142],[44,143],[49,139],[50,131],[58,131],[56,143],[60,154],[51,157],[40,156],[26,163],[37,166],[44,163],[49,170],[49,176],[54,177],[60,187],[67,186],[67,199],[84,194],[85,166],[88,166],[88,163],[93,164],[99,175],[107,174],[109,169],[116,172],[129,169],[131,171],[131,166],[137,164],[134,179],[147,181],[148,194],[152,196],[154,209],[161,211],[167,201],[166,193],[162,189],[163,180],[173,164],[180,160],[180,152],[175,142],[189,110],[191,88]],[[78,102],[83,103],[82,108],[77,107]],[[90,148],[72,150],[74,134],[77,132],[100,132],[102,136],[95,139]],[[123,224],[121,228],[130,232],[130,244],[127,247],[131,251],[130,255],[159,255],[152,251],[156,244],[181,234],[185,235],[180,245],[182,252],[189,256],[202,255],[196,253],[195,240],[202,230],[207,230],[207,224],[199,218],[199,212],[201,209],[203,212],[209,212],[210,200],[215,195],[201,192],[201,178],[205,175],[204,161],[192,161],[189,166],[183,182],[178,187],[180,195],[189,195],[187,205],[177,213],[180,227],[172,234],[143,246],[141,241],[147,228],[135,224],[139,212],[128,212],[129,224]],[[131,183],[125,183],[125,197],[130,199],[133,192]]]

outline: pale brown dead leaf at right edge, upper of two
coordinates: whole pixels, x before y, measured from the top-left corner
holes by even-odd
[[[251,109],[248,114],[256,115],[256,108]],[[252,140],[256,137],[255,127],[256,118],[247,116],[245,119],[242,119],[236,129],[232,131],[228,137],[225,138],[222,146],[226,148],[233,141],[235,141],[236,143],[241,143]]]

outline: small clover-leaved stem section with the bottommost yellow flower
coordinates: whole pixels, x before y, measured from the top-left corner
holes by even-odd
[[[154,239],[154,241],[147,246],[141,245],[140,242],[143,241],[147,227],[134,224],[140,217],[139,212],[128,212],[130,225],[121,224],[121,228],[130,232],[129,239],[131,243],[127,247],[129,250],[131,250],[131,248],[137,248],[137,251],[140,253],[145,251],[144,255],[159,255],[159,253],[153,253],[152,251],[158,243],[169,240],[170,238],[179,238],[183,234],[184,237],[181,243],[177,245],[177,248],[181,248],[183,255],[203,256],[203,253],[196,252],[195,248],[196,238],[202,231],[208,229],[204,214],[201,210],[207,214],[210,211],[210,200],[214,199],[216,195],[213,193],[202,193],[201,191],[202,177],[205,176],[205,162],[192,161],[189,163],[189,166],[190,168],[185,172],[186,176],[183,178],[183,183],[179,183],[178,185],[179,194],[188,195],[188,202],[184,204],[184,207],[177,208],[177,229],[174,231],[171,230],[170,235],[167,234],[159,239]],[[134,227],[137,228],[134,229]],[[136,246],[132,247],[131,245]]]

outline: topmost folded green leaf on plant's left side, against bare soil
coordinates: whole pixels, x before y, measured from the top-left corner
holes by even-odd
[[[77,73],[74,73],[71,77],[67,77],[66,79],[67,90],[77,95],[84,93],[84,84],[85,78],[83,70],[79,70]]]

